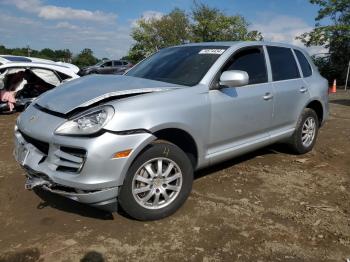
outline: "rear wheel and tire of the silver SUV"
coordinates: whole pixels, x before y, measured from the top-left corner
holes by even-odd
[[[290,145],[292,150],[296,154],[305,154],[311,151],[316,143],[318,128],[319,121],[316,112],[313,109],[305,108],[291,137]]]

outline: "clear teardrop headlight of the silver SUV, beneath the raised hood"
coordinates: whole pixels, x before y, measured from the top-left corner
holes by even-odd
[[[58,135],[90,135],[100,131],[114,115],[112,106],[102,106],[74,116],[59,126]]]

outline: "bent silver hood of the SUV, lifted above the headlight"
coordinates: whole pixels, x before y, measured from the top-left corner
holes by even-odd
[[[106,98],[165,91],[182,86],[124,75],[91,75],[67,82],[43,95],[35,103],[67,114],[78,107],[87,107]]]

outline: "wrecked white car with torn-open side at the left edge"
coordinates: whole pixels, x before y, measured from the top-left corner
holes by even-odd
[[[62,82],[79,76],[60,64],[11,62],[0,66],[0,112],[28,106],[35,98]]]

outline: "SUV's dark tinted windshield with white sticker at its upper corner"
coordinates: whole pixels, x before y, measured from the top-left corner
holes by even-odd
[[[227,46],[182,46],[162,49],[126,75],[194,86],[225,52]]]

